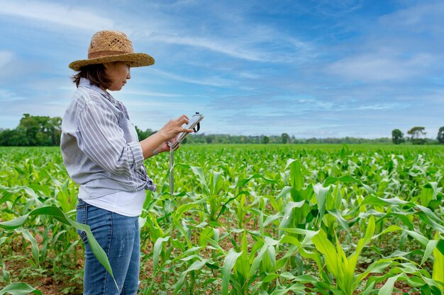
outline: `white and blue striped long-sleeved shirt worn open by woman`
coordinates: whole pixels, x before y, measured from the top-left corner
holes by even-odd
[[[125,106],[87,79],[63,116],[60,148],[81,199],[156,189]]]

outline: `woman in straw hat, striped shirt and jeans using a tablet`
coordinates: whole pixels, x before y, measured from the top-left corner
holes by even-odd
[[[170,120],[159,132],[138,141],[125,106],[108,91],[120,91],[131,79],[130,69],[150,66],[148,54],[134,53],[131,40],[121,32],[104,30],[94,34],[88,59],[70,68],[77,86],[62,120],[60,147],[67,172],[79,184],[77,221],[88,224],[108,255],[111,275],[96,260],[86,233],[84,294],[136,294],[139,283],[140,238],[138,216],[145,190],[155,191],[143,160],[170,151],[167,141],[180,132],[182,115]]]

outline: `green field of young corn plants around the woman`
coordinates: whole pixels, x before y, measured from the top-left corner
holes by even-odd
[[[444,294],[442,146],[184,145],[172,197],[168,158],[145,161],[139,294]],[[109,265],[60,150],[0,166],[0,295],[82,294],[76,229]]]

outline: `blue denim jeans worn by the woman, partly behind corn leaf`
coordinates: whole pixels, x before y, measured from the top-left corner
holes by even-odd
[[[87,224],[108,256],[114,279],[96,259],[87,234],[78,231],[85,245],[84,295],[133,295],[139,287],[140,236],[138,216],[128,217],[94,207],[79,199],[77,222]]]

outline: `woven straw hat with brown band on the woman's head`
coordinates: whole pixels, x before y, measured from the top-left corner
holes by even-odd
[[[122,32],[101,30],[91,37],[88,59],[70,63],[70,68],[80,71],[82,66],[103,64],[105,62],[129,62],[131,67],[150,66],[154,59],[145,53],[134,53],[133,43]]]

